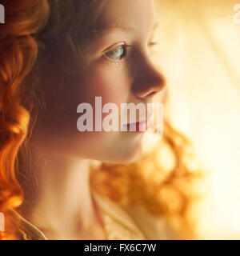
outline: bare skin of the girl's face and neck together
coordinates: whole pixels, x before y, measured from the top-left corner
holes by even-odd
[[[116,23],[122,28],[110,28]],[[41,85],[47,111],[39,111],[30,141],[38,160],[34,170],[38,190],[26,188],[36,203],[28,210],[22,206],[22,214],[51,239],[105,239],[101,213],[90,191],[90,160],[130,163],[142,154],[144,133],[80,133],[78,104],[94,106],[95,96],[102,96],[102,105],[114,102],[119,109],[122,102],[146,104],[165,86],[148,50],[155,25],[153,1],[107,0],[98,24],[97,36],[84,50],[84,71],[64,76],[50,70]],[[108,58],[106,52],[122,42],[130,45],[126,58]],[[54,74],[64,86],[58,86]]]

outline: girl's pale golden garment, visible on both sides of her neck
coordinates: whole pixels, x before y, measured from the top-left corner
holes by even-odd
[[[145,210],[137,207],[121,207],[109,198],[103,198],[93,191],[95,202],[102,210],[102,220],[108,240],[158,240],[172,239],[166,223],[154,218]],[[16,210],[11,210],[12,220],[18,225],[19,237],[22,240],[47,240],[38,227],[22,218]]]

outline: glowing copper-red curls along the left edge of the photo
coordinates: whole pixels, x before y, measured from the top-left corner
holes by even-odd
[[[34,39],[46,22],[48,5],[45,0],[19,0],[3,3],[6,22],[0,33],[0,211],[6,216],[6,232],[10,238],[7,210],[22,203],[23,193],[15,177],[19,147],[26,138],[29,112],[22,107],[21,85],[32,70],[38,54]]]

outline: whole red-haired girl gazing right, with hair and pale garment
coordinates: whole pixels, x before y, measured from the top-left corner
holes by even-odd
[[[165,79],[150,59],[154,2],[8,0],[4,6],[2,238],[176,238],[165,229],[173,223],[189,234],[183,231],[190,230],[192,198],[182,186],[192,174],[181,134],[165,122],[163,139],[144,155],[144,132],[76,126],[78,104],[94,106],[95,97],[120,109],[164,93]],[[175,156],[168,174],[157,165],[163,145]]]

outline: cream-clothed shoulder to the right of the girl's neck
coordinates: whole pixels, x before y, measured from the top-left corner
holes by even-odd
[[[123,240],[163,240],[175,239],[174,231],[162,219],[154,217],[137,206],[118,206],[110,198],[94,198],[102,209],[103,220],[110,239]]]

